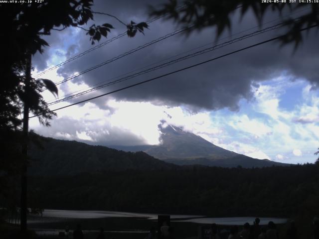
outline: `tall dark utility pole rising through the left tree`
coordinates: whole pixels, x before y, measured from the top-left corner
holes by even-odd
[[[31,82],[31,54],[26,57],[25,83],[24,83],[24,107],[22,127],[22,168],[21,168],[21,235],[26,236],[26,215],[27,215],[27,156],[28,156],[28,131],[29,131],[29,104],[28,93]]]

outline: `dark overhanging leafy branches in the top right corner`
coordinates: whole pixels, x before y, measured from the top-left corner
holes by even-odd
[[[183,4],[184,7],[179,7]],[[311,6],[306,13],[296,20],[285,20],[287,31],[280,40],[282,44],[294,43],[297,47],[303,39],[301,29],[319,24],[319,4],[307,3]],[[244,16],[248,10],[252,10],[257,21],[262,25],[263,17],[268,11],[277,12],[279,15],[284,10],[292,12],[305,7],[305,3],[265,3],[262,0],[168,0],[160,8],[150,7],[151,15],[167,14],[166,19],[172,19],[184,27],[188,27],[188,33],[207,27],[216,27],[217,37],[225,29],[231,29],[231,13],[239,8]]]

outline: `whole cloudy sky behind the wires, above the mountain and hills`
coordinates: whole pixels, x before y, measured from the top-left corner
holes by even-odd
[[[153,5],[165,2],[152,1]],[[147,0],[94,1],[93,10],[107,12],[124,22],[147,21]],[[299,10],[285,18],[295,18],[309,10]],[[266,14],[262,28],[278,24],[281,18]],[[95,15],[92,24],[111,23],[115,28],[107,39],[125,32],[125,26],[114,18]],[[179,29],[176,23],[159,19],[149,25],[145,35],[124,36],[83,57],[47,72],[41,78],[59,82],[69,76],[142,46]],[[244,36],[261,29],[253,14],[241,19],[232,15],[232,27],[216,41],[215,29],[176,34],[133,54],[106,64],[58,86],[59,97],[86,90],[207,47]],[[263,41],[283,32],[269,31],[214,51],[192,57],[159,70],[140,75],[50,106],[67,106],[131,84],[208,60]],[[32,76],[92,47],[88,35],[80,28],[52,31],[45,36],[49,47],[32,58]],[[182,127],[223,147],[259,159],[284,163],[315,162],[319,147],[319,47],[316,30],[305,34],[296,51],[293,45],[279,42],[263,44],[194,67],[156,81],[115,94],[59,110],[51,126],[30,119],[37,133],[59,139],[83,141],[99,145],[159,144],[158,125],[167,123]],[[101,39],[99,43],[107,39]],[[95,45],[98,45],[96,43]],[[95,46],[93,45],[93,46]],[[55,98],[43,92],[47,102]]]

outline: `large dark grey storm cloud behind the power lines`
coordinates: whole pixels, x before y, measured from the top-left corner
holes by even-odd
[[[146,0],[96,1],[94,10],[111,13],[125,22],[130,22],[132,19],[138,22],[149,18],[146,14],[146,6],[149,3],[150,1]],[[257,25],[255,18],[249,14],[241,22],[238,22],[237,19],[239,19],[239,16],[234,15],[232,33],[240,32]],[[269,16],[268,20],[270,19],[274,19],[274,16]],[[105,16],[97,15],[95,20],[97,24],[110,22],[116,27],[116,29],[112,31],[112,35],[109,35],[108,38],[125,31],[125,26],[122,26],[121,23],[113,18],[105,18]],[[265,22],[266,21],[267,19],[265,19]],[[150,30],[146,30],[145,36],[138,34],[136,37],[130,39],[123,37],[61,67],[58,72],[63,76],[72,75],[74,72],[81,72],[100,62],[172,32],[175,29],[176,26],[169,21],[156,21],[150,24]],[[277,34],[279,34],[279,32],[277,32]],[[228,35],[228,33],[224,35]],[[238,35],[233,36],[233,38],[237,36]],[[161,69],[157,72],[140,76],[134,80],[105,88],[95,94],[102,94],[129,84],[150,79],[160,74],[237,50],[272,36],[274,36],[274,33],[245,40],[212,53]],[[288,75],[291,75],[292,79],[304,78],[314,86],[318,84],[319,48],[317,47],[317,37],[318,35],[311,32],[304,44],[294,54],[293,46],[280,48],[278,42],[271,42],[161,78],[151,83],[116,93],[111,97],[128,101],[152,101],[156,104],[166,104],[170,106],[186,105],[194,109],[204,108],[215,110],[227,107],[231,110],[237,110],[240,99],[252,99],[253,84],[257,85],[258,82],[263,80],[280,76],[284,71]],[[86,73],[72,81],[82,81],[88,85],[94,85],[134,69],[159,62],[209,41],[214,42],[214,39],[213,29],[207,29],[200,33],[194,32],[188,37],[174,36],[97,70]],[[52,44],[58,44],[55,40],[59,39],[53,39]],[[77,41],[79,42],[78,47],[80,52],[91,47],[85,32],[80,32],[77,35]],[[223,41],[224,40],[219,39],[219,42]],[[67,51],[73,51],[75,49],[74,47],[75,46],[72,45]],[[82,99],[87,97],[88,96],[85,96]],[[94,101],[94,103],[103,107],[107,99],[107,97],[100,98]],[[73,102],[76,101],[77,99],[73,100]]]

